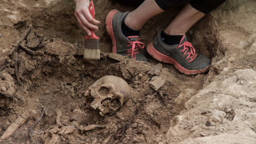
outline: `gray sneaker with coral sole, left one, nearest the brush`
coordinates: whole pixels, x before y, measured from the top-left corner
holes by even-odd
[[[112,10],[107,15],[106,28],[114,45],[113,53],[118,53],[139,61],[147,61],[145,55],[140,53],[140,49],[143,49],[145,46],[139,41],[140,35],[125,37],[122,33],[122,21],[128,13],[129,12],[121,13],[118,10]]]

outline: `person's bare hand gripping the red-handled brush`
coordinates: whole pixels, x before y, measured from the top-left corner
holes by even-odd
[[[79,25],[84,29],[84,31],[91,36],[91,30],[98,30],[100,21],[95,20],[89,11],[89,0],[74,0],[76,3],[75,16]]]

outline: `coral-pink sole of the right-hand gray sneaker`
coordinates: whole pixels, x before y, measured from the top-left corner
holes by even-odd
[[[209,70],[210,66],[207,66],[204,69],[198,69],[198,70],[189,70],[184,67],[182,67],[177,61],[175,61],[173,58],[168,57],[167,55],[164,55],[160,52],[158,52],[154,46],[153,42],[149,43],[147,45],[147,52],[153,56],[154,59],[164,62],[164,63],[171,63],[174,65],[175,68],[177,68],[181,73],[185,75],[196,75],[196,74],[201,74],[205,73],[206,71]]]

